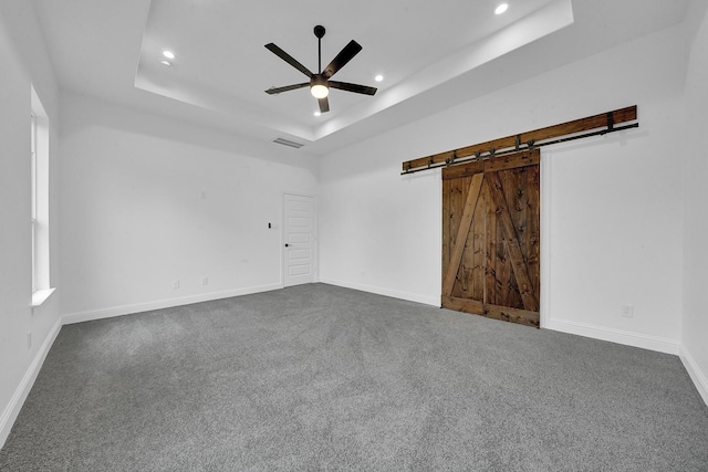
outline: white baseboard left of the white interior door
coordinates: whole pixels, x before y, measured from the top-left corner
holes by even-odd
[[[136,303],[133,305],[114,306],[111,308],[92,310],[87,312],[70,313],[62,316],[62,324],[91,322],[94,319],[112,318],[114,316],[132,315],[134,313],[149,312],[153,310],[171,308],[174,306],[190,305],[192,303],[210,302],[212,300],[230,298],[232,296],[250,295],[252,293],[270,292],[282,289],[281,283],[250,286],[244,289],[211,292],[199,295],[183,296],[179,298],[160,300],[157,302]]]

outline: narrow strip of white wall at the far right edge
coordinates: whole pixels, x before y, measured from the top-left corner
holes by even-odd
[[[708,15],[690,50],[686,75],[684,319],[681,359],[708,403]]]

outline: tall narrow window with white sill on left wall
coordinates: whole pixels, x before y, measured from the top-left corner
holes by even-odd
[[[49,117],[34,87],[31,103],[32,306],[39,306],[54,291],[49,274]]]

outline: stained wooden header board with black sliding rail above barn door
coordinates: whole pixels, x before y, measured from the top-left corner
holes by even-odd
[[[519,153],[521,150],[533,150],[534,148],[550,146],[554,144],[568,143],[575,139],[589,138],[592,136],[604,136],[624,129],[639,127],[637,119],[637,106],[615,109],[586,118],[561,123],[560,125],[548,126],[518,135],[493,139],[464,148],[435,154],[433,156],[420,157],[403,162],[402,176],[436,169],[438,167],[449,167],[457,164],[473,160],[486,160],[497,156]],[[617,126],[618,124],[624,125]]]

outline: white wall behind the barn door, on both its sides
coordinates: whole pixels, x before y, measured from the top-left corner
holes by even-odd
[[[439,304],[439,175],[400,162],[636,104],[641,128],[544,150],[545,326],[677,354],[684,41],[665,30],[324,157],[321,280]]]

